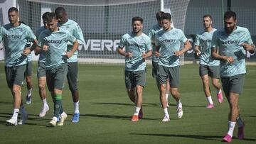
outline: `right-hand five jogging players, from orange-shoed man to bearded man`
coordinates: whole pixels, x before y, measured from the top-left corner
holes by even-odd
[[[179,55],[192,48],[184,33],[171,26],[170,13],[156,13],[158,23],[149,31],[149,36],[142,32],[143,19],[132,18],[132,32],[122,35],[118,52],[125,57],[124,79],[129,99],[135,104],[132,121],[143,117],[142,92],[145,86],[145,58],[152,56],[152,75],[156,78],[161,106],[164,110],[163,122],[170,121],[167,108],[169,92],[176,100],[177,116],[183,116],[179,86]],[[238,138],[244,138],[245,123],[240,117],[238,98],[242,93],[245,80],[245,52],[254,53],[247,28],[237,26],[236,13],[227,11],[224,15],[225,27],[216,30],[212,27],[212,17],[203,16],[204,31],[196,35],[195,52],[199,56],[199,75],[203,82],[203,91],[208,100],[208,109],[213,109],[213,100],[209,88],[209,76],[217,90],[218,102],[223,102],[223,91],[230,105],[228,115],[228,133],[223,138],[231,142],[236,121]],[[181,43],[183,48],[180,49]],[[125,48],[125,50],[124,50]]]

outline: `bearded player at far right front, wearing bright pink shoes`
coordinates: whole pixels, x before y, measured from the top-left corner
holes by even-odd
[[[232,141],[236,121],[238,122],[238,138],[244,138],[245,124],[240,117],[238,99],[242,94],[245,81],[245,53],[247,51],[255,52],[250,32],[247,28],[237,26],[235,12],[226,11],[224,28],[215,31],[212,40],[212,56],[215,60],[220,60],[220,79],[230,106],[228,134],[223,138],[225,142]]]

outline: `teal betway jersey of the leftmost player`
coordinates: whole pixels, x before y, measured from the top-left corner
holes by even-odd
[[[2,40],[5,48],[5,65],[14,67],[27,63],[27,57],[21,53],[28,42],[36,40],[36,35],[23,23],[17,27],[7,24],[0,28],[0,41]]]

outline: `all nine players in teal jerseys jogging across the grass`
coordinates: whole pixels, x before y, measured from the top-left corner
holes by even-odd
[[[12,7],[8,11],[9,24],[0,28],[0,40],[5,47],[6,81],[14,96],[14,113],[6,122],[11,125],[23,124],[28,118],[21,99],[21,85],[24,72],[28,67],[28,55],[35,51],[38,60],[38,88],[43,101],[40,117],[49,110],[46,101],[46,84],[54,103],[53,118],[50,126],[63,126],[67,114],[62,105],[62,92],[65,77],[73,96],[73,123],[79,121],[78,94],[78,45],[85,43],[78,23],[68,19],[63,7],[55,12],[43,14],[43,24],[36,35],[31,28],[18,21],[18,9]],[[129,99],[134,102],[135,110],[132,121],[143,117],[142,93],[146,82],[146,57],[152,56],[152,75],[156,78],[159,98],[164,111],[163,122],[170,121],[168,113],[169,92],[176,100],[177,116],[183,116],[179,86],[179,56],[192,48],[183,31],[171,25],[171,14],[159,11],[156,13],[158,23],[149,31],[149,36],[142,32],[143,18],[132,18],[132,31],[122,35],[117,49],[125,56],[124,79]],[[223,138],[230,142],[233,137],[235,123],[238,121],[238,138],[244,138],[244,122],[240,118],[238,98],[242,93],[245,80],[245,52],[255,52],[255,45],[247,28],[237,26],[236,14],[227,11],[224,16],[225,28],[216,30],[212,27],[212,17],[203,16],[204,31],[196,35],[196,55],[200,57],[199,75],[203,82],[203,90],[208,100],[208,109],[214,108],[209,89],[209,76],[217,89],[218,102],[223,102],[223,91],[230,105],[228,117],[228,133]],[[28,47],[27,43],[33,43]],[[183,48],[181,48],[183,43]],[[125,48],[125,49],[124,49]],[[29,75],[29,74],[28,74]],[[29,77],[28,77],[29,82]],[[31,104],[31,89],[28,87],[27,104]],[[21,120],[18,121],[18,112]]]

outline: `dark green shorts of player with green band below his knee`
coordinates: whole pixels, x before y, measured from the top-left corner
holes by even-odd
[[[63,90],[65,84],[65,77],[68,72],[68,64],[64,63],[50,70],[46,70],[47,87],[50,92],[53,89]]]

